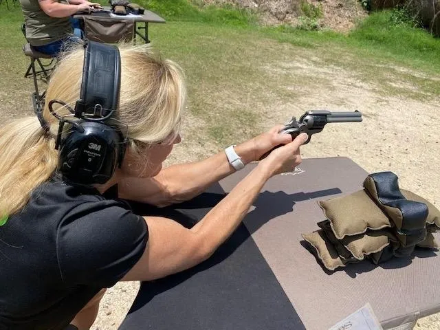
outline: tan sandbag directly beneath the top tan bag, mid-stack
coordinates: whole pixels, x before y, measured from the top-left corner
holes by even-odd
[[[396,236],[390,229],[382,229],[367,230],[364,234],[355,236],[345,236],[341,243],[355,259],[363,260],[369,254],[384,250],[390,241],[397,241]]]

